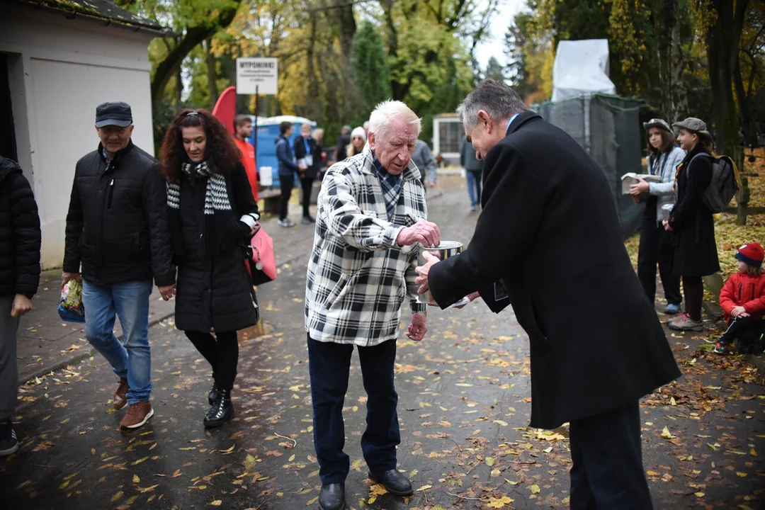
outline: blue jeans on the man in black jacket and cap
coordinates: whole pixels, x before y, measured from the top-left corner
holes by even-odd
[[[119,378],[126,378],[128,404],[148,402],[151,395],[151,348],[148,345],[148,297],[151,279],[96,285],[83,281],[85,337]],[[122,343],[114,320],[122,324]]]

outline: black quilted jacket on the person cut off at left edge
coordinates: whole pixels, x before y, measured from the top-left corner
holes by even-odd
[[[40,216],[29,181],[0,157],[0,296],[30,299],[40,284]]]

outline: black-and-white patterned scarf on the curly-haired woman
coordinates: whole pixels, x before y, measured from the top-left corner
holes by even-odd
[[[209,254],[220,253],[233,249],[242,242],[242,229],[231,207],[226,177],[216,174],[207,161],[200,163],[183,163],[181,172],[189,180],[207,179],[204,195],[204,236],[207,238],[205,248]],[[168,182],[168,207],[170,208],[171,229],[181,232],[181,183]],[[180,236],[183,237],[182,234]],[[180,240],[179,240],[180,242]],[[181,254],[185,248],[174,241],[175,249]]]

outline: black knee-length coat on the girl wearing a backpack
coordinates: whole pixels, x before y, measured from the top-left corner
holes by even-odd
[[[715,242],[715,218],[702,203],[712,180],[712,160],[697,145],[679,164],[675,179],[677,202],[669,216],[675,244],[672,272],[679,276],[706,276],[720,271]],[[695,158],[697,154],[702,154]],[[688,167],[690,165],[690,167]]]

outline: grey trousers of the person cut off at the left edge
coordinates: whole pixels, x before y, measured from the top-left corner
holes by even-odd
[[[16,364],[16,331],[18,319],[11,317],[15,296],[0,297],[0,422],[16,414],[18,365]]]

